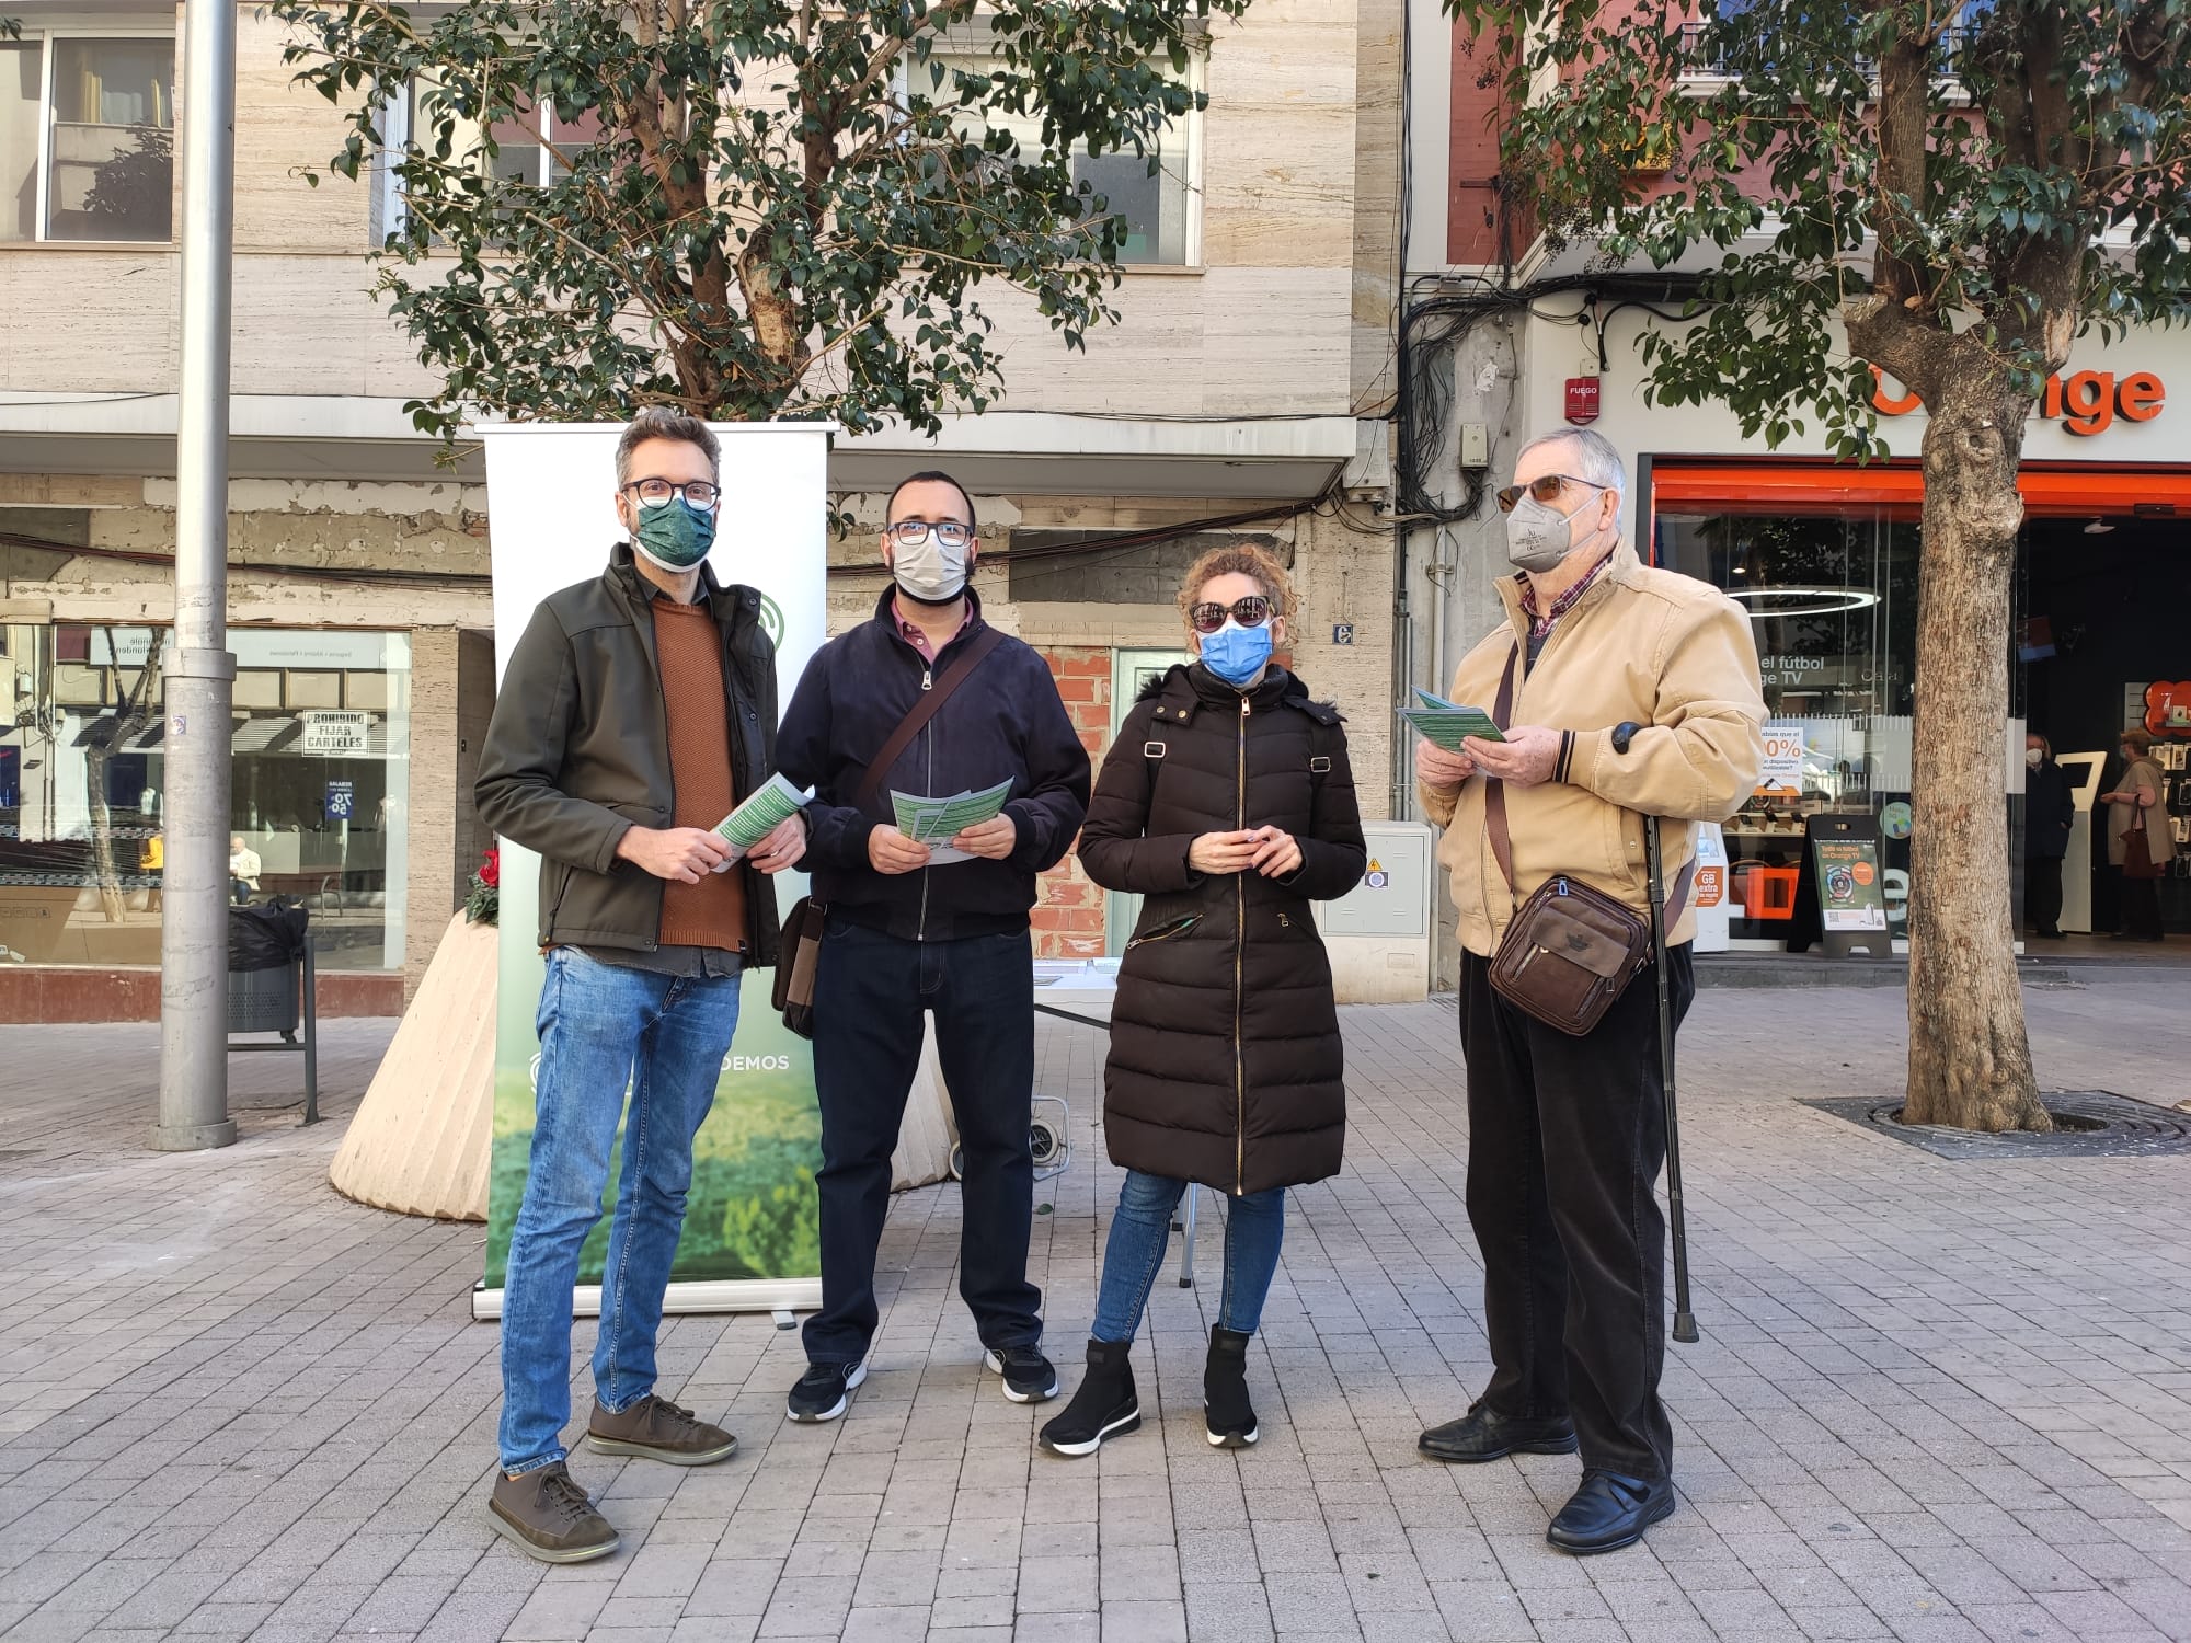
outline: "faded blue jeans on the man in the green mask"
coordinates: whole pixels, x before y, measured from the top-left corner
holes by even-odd
[[[561,1461],[570,1420],[570,1323],[578,1251],[600,1220],[616,1126],[624,1170],[600,1282],[594,1389],[609,1411],[655,1389],[662,1292],[684,1231],[692,1137],[714,1104],[738,977],[670,977],[548,955],[526,1198],[502,1279],[502,1470]]]

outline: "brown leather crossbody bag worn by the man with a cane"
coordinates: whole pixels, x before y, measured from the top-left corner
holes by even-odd
[[[1514,708],[1514,675],[1521,670],[1521,642],[1499,683],[1494,721],[1505,729]],[[1652,960],[1650,918],[1595,889],[1580,878],[1553,874],[1529,900],[1521,900],[1514,883],[1514,843],[1507,832],[1505,782],[1483,778],[1483,828],[1492,839],[1492,857],[1505,874],[1507,894],[1516,900],[1499,953],[1492,955],[1490,984],[1516,1010],[1536,1016],[1547,1027],[1582,1036],[1604,1021],[1606,1010]],[[1665,898],[1665,924],[1680,922],[1696,878],[1691,857],[1676,874]]]

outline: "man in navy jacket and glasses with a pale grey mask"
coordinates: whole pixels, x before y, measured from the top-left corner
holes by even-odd
[[[874,1255],[890,1211],[890,1154],[920,1060],[922,1014],[957,1117],[960,1295],[986,1363],[1012,1402],[1056,1398],[1041,1352],[1043,1295],[1028,1282],[1034,1159],[1036,874],[1080,832],[1089,756],[1047,664],[1012,637],[854,808],[870,762],[922,690],[986,631],[966,587],[979,552],[973,497],[947,473],[916,473],[890,497],[883,563],[894,587],[874,620],[815,653],[776,734],[778,769],[815,789],[806,868],[828,907],[815,968],[815,1091],[822,1102],[822,1310],[806,1321],[808,1369],[791,1389],[798,1422],[837,1420],[868,1378]],[[929,863],[894,826],[892,791],[949,797],[1010,780],[1001,815],[960,832],[968,861]]]

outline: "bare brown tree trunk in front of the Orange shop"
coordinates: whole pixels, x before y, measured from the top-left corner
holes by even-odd
[[[1904,1122],[2051,1130],[2031,1073],[2003,804],[2009,598],[2029,403],[1941,383],[1924,436],[1911,769],[1911,1060]]]

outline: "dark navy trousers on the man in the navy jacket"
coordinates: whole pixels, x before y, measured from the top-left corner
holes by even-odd
[[[1043,1338],[1028,1282],[1034,1227],[1034,953],[1028,931],[905,942],[830,918],[815,966],[815,1095],[822,1104],[822,1310],[811,1363],[859,1363],[874,1341],[874,1255],[890,1216],[890,1154],[920,1065],[925,1012],[962,1150],[960,1295],[982,1345]]]

